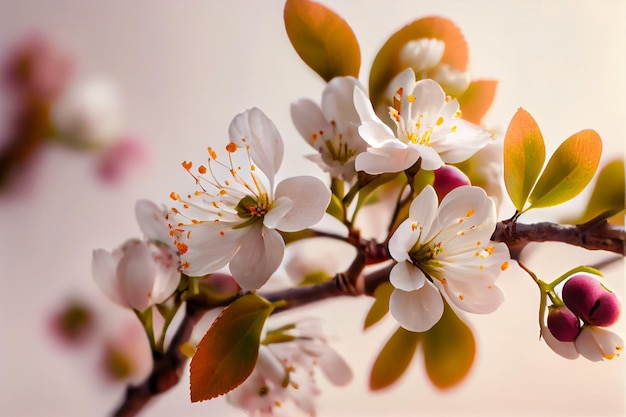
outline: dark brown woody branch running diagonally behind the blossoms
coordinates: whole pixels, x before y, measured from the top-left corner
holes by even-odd
[[[511,250],[529,242],[563,242],[589,250],[605,250],[624,255],[626,231],[623,228],[606,223],[580,226],[562,226],[554,223],[536,223],[514,225],[500,222],[492,240],[504,242]],[[270,302],[281,302],[275,312],[283,312],[302,307],[328,298],[340,296],[373,295],[376,288],[389,279],[393,265],[362,276],[365,265],[380,263],[389,259],[384,244],[363,241],[359,256],[344,273],[337,274],[334,280],[310,287],[290,288],[282,291],[262,294]],[[234,297],[236,298],[236,297]],[[228,305],[234,298],[227,299]],[[197,301],[197,300],[196,300]],[[138,386],[129,386],[125,398],[113,417],[133,417],[156,395],[163,393],[178,383],[187,363],[187,357],[180,351],[180,346],[188,341],[193,327],[205,311],[216,305],[188,301],[185,317],[165,354],[155,358],[150,376]]]

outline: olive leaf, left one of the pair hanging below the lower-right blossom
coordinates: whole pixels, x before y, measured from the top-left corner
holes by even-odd
[[[379,390],[396,382],[407,370],[421,333],[399,327],[378,354],[370,374],[370,389]]]

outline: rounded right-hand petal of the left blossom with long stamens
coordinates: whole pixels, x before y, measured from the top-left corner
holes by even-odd
[[[315,177],[292,177],[276,186],[276,198],[291,200],[291,208],[275,221],[276,229],[296,232],[319,222],[330,202],[330,190]],[[272,210],[270,210],[271,213]],[[270,214],[268,213],[268,214]]]

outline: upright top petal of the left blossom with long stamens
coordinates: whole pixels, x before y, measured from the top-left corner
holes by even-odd
[[[274,122],[255,107],[235,116],[228,135],[239,146],[243,145],[242,139],[246,139],[252,160],[265,173],[273,188],[284,152],[283,139]]]

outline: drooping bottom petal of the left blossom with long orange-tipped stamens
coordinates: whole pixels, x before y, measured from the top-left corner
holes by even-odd
[[[241,240],[230,272],[243,290],[257,290],[276,272],[284,252],[285,242],[276,230],[254,226]]]

